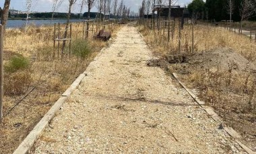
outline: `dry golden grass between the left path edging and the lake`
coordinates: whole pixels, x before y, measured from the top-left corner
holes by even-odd
[[[111,27],[106,30],[115,36],[119,25]],[[61,25],[61,33],[64,29],[65,25]],[[82,39],[83,25],[72,23],[72,29],[72,44],[77,46],[75,42]],[[0,125],[0,153],[12,153],[73,80],[86,70],[96,54],[108,45],[108,42],[92,40],[90,33],[86,43],[90,52],[82,60],[74,54],[71,58],[63,54],[63,60],[57,60],[56,55],[53,59],[53,32],[53,26],[30,26],[26,32],[20,28],[7,29],[5,33],[5,65],[13,56],[22,55],[29,60],[30,66],[15,72],[5,70],[5,117]],[[65,52],[68,48],[67,44]],[[22,99],[28,92],[30,94]]]

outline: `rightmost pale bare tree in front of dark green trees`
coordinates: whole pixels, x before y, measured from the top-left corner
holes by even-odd
[[[252,0],[243,0],[239,8],[239,13],[241,15],[240,29],[239,32],[242,33],[243,21],[251,17],[254,11],[253,1]]]

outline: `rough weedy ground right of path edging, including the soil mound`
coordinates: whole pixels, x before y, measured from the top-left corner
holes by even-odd
[[[253,62],[230,49],[218,48],[150,60],[148,66],[178,72],[183,82],[213,106],[226,125],[241,133],[247,146],[256,151],[256,66]]]

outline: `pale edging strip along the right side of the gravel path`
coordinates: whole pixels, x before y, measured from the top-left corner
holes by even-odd
[[[212,119],[214,119],[214,121],[216,121],[217,123],[222,123],[221,117],[219,117],[218,114],[216,112],[214,112],[214,109],[211,108],[210,106],[205,106],[204,105],[205,102],[199,100],[199,98],[197,96],[195,96],[195,94],[193,94],[193,92],[191,90],[189,90],[189,88],[187,88],[187,86],[185,86],[185,84],[183,84],[183,82],[181,82],[181,80],[179,80],[179,77],[177,76],[176,73],[172,73],[172,76],[189,93],[189,95],[195,100],[195,102],[197,102],[197,104],[199,104],[199,106],[201,106],[205,110],[205,112],[207,112],[207,114],[209,114],[212,117]],[[233,137],[235,139],[236,143],[238,143],[238,145],[240,145],[247,153],[256,154],[249,147],[247,147],[241,141],[238,140],[241,138],[241,135],[239,133],[237,133],[236,131],[234,131],[234,129],[232,129],[231,127],[224,127],[224,130],[231,137]]]

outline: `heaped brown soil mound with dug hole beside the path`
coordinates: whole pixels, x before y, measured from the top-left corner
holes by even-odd
[[[166,68],[169,64],[179,64],[184,70],[210,69],[210,71],[215,72],[232,69],[238,72],[256,72],[255,64],[228,48],[217,48],[216,50],[193,55],[166,56],[160,60],[149,60],[147,65]]]

